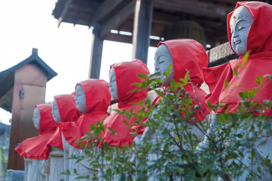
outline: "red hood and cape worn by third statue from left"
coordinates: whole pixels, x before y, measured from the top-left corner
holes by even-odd
[[[74,143],[86,135],[92,123],[96,125],[97,121],[103,121],[104,116],[108,116],[107,108],[110,105],[111,95],[105,80],[89,79],[77,85],[81,85],[85,93],[86,113],[82,114],[76,122],[60,124],[60,130],[70,145],[82,148]]]

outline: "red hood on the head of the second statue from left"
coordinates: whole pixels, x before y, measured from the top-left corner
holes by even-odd
[[[78,119],[80,112],[76,108],[75,93],[57,95],[54,98],[58,106],[61,122],[72,122]]]

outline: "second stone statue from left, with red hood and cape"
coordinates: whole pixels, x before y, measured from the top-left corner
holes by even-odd
[[[75,95],[63,94],[54,96],[52,103],[52,116],[58,126],[65,122],[74,122],[80,116],[80,112],[77,110],[75,101]],[[61,135],[59,127],[53,133],[51,138],[46,143],[42,155],[47,160],[43,162],[43,170],[49,174],[49,181],[60,180],[64,178],[61,174],[64,171],[64,151],[61,141]]]

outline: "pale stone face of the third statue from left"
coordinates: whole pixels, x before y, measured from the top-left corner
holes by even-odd
[[[80,112],[86,113],[86,97],[80,84],[76,86],[75,102],[76,108],[78,108]]]

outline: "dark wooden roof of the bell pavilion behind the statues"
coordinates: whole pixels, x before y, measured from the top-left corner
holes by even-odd
[[[264,1],[271,4],[271,1]],[[212,47],[228,41],[226,19],[236,0],[154,0],[152,36],[163,37],[165,29],[178,20],[194,20],[205,30]],[[135,0],[58,0],[52,15],[61,22],[101,26],[104,40],[131,43],[129,35],[110,30],[132,32]],[[159,40],[151,40],[157,46]]]

